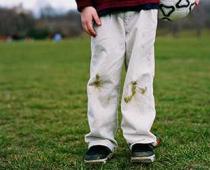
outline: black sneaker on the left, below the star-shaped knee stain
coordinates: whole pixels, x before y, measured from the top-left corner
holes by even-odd
[[[103,145],[95,145],[88,149],[85,154],[85,163],[106,163],[112,157],[112,151]]]

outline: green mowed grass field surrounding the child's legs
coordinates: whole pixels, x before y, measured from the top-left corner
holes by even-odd
[[[160,37],[156,54],[156,162],[131,164],[119,129],[114,158],[90,166],[89,39],[1,42],[0,169],[210,169],[210,38]]]

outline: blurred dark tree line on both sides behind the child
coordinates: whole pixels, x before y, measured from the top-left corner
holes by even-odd
[[[210,1],[203,1],[188,18],[171,23],[159,22],[159,32],[177,36],[180,30],[193,28],[200,36],[203,29],[210,28],[209,11]],[[73,37],[81,33],[80,15],[75,10],[60,14],[52,7],[46,6],[41,9],[40,17],[36,18],[21,6],[13,9],[0,8],[0,39],[46,39],[55,34]]]

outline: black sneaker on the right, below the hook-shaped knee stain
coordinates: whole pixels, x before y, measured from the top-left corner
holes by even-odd
[[[152,144],[134,144],[131,148],[131,162],[151,163],[155,160]]]

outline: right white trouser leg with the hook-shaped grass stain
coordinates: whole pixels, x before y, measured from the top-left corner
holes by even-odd
[[[127,74],[121,100],[122,130],[129,144],[155,143],[153,96],[157,10],[133,12],[126,25]]]

